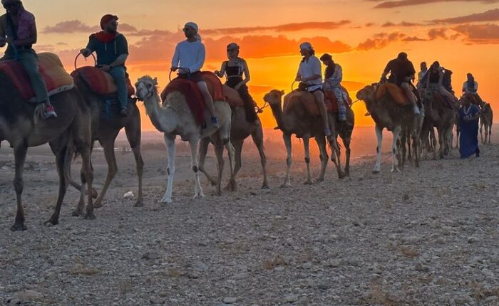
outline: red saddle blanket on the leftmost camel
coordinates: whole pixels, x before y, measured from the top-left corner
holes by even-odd
[[[61,60],[53,53],[38,54],[38,70],[41,73],[48,91],[48,96],[62,93],[73,88],[73,78],[64,70]],[[26,101],[33,101],[35,93],[31,87],[26,70],[16,60],[0,62],[0,71],[9,76],[19,95]]]

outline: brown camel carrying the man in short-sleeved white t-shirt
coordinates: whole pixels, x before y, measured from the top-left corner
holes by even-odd
[[[307,164],[307,181],[305,184],[312,184],[312,175],[310,174],[310,152],[309,152],[309,140],[311,137],[315,138],[317,146],[319,147],[320,159],[321,159],[321,170],[317,181],[324,181],[324,174],[326,172],[326,166],[328,162],[328,154],[326,151],[326,137],[324,134],[324,126],[321,120],[317,120],[317,116],[309,115],[309,112],[305,109],[303,103],[311,102],[314,103],[314,96],[306,92],[293,91],[289,93],[285,99],[293,99],[289,102],[289,107],[282,108],[282,96],[284,95],[284,90],[271,90],[269,93],[264,95],[264,101],[269,103],[272,110],[272,114],[277,121],[279,130],[282,131],[282,137],[284,139],[284,144],[287,149],[287,171],[284,183],[281,185],[291,186],[291,166],[292,166],[292,143],[291,136],[295,134],[297,138],[303,139],[304,151],[305,151],[305,163]],[[303,102],[303,100],[306,100]],[[331,132],[336,134],[334,131],[334,124],[332,118],[329,117],[329,123],[331,126]],[[336,164],[336,171],[338,172],[339,178],[344,177],[344,173],[341,170],[339,161],[337,160],[337,152],[339,151],[336,139],[331,137],[330,145],[331,149],[331,160]]]

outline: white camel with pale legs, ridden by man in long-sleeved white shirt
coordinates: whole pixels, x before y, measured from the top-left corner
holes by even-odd
[[[215,144],[215,154],[217,155],[217,194],[222,194],[221,181],[222,171],[224,167],[223,149],[224,146],[229,152],[230,161],[230,185],[235,186],[233,164],[234,164],[234,147],[230,142],[231,130],[231,110],[230,106],[225,101],[215,101],[215,110],[220,123],[220,127],[211,125],[210,112],[205,112],[207,127],[201,129],[195,122],[195,117],[190,112],[185,96],[174,91],[170,93],[165,101],[161,103],[161,97],[158,93],[158,80],[150,78],[146,75],[139,78],[135,83],[137,88],[138,100],[143,101],[145,110],[150,117],[154,127],[164,133],[165,144],[168,152],[168,185],[165,196],[161,199],[161,203],[172,203],[173,179],[175,177],[175,137],[180,135],[183,141],[190,144],[191,149],[191,167],[194,172],[195,199],[204,198],[202,187],[199,178],[199,166],[197,162],[197,147],[200,139],[209,137],[210,141]]]

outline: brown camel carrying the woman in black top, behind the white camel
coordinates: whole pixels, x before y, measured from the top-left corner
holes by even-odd
[[[222,85],[224,94],[229,100],[241,99],[237,90],[230,88],[227,85]],[[242,103],[242,101],[241,101]],[[230,104],[230,103],[229,103]],[[265,157],[264,151],[264,138],[263,138],[263,127],[262,122],[257,119],[255,122],[248,122],[246,120],[246,112],[244,107],[235,107],[232,108],[232,127],[230,129],[230,141],[234,145],[235,149],[235,167],[234,167],[234,177],[237,175],[237,172],[240,171],[242,166],[241,161],[241,153],[242,153],[242,145],[245,142],[245,139],[249,136],[252,137],[254,144],[257,146],[260,161],[262,162],[262,170],[263,170],[263,184],[262,189],[268,189],[269,184],[267,181],[267,157]],[[210,176],[205,170],[205,157],[207,154],[208,145],[210,144],[210,139],[205,138],[201,139],[200,142],[200,164],[199,169],[200,172],[204,173],[207,179],[215,185],[217,180]],[[227,186],[230,187],[230,186]]]

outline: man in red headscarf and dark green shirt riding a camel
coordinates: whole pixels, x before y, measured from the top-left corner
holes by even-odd
[[[92,34],[86,48],[80,53],[88,57],[97,53],[97,67],[109,73],[118,88],[120,116],[128,116],[128,88],[126,85],[125,62],[128,58],[128,42],[123,34],[118,33],[118,16],[107,14],[101,19],[102,31]]]

